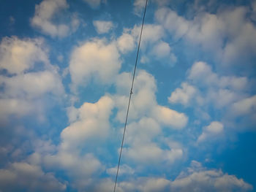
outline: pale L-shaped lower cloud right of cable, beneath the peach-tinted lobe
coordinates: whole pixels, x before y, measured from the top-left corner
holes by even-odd
[[[159,123],[153,118],[141,118],[138,123],[129,123],[127,130],[126,142],[129,147],[124,147],[124,156],[132,161],[144,165],[160,162],[173,164],[184,155],[178,145],[168,145],[170,149],[162,150],[157,143],[152,142],[162,133]]]

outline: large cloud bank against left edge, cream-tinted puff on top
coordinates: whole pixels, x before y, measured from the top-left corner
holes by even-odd
[[[0,69],[7,71],[0,75],[3,119],[42,109],[39,100],[45,94],[59,96],[64,93],[61,77],[50,65],[42,39],[4,38],[0,45]]]

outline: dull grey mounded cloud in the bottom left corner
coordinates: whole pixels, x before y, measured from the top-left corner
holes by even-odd
[[[45,173],[39,166],[27,163],[13,163],[7,169],[0,169],[0,188],[4,191],[65,191],[53,173]]]

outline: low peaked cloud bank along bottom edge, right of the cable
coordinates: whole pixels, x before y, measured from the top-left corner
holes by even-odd
[[[113,183],[108,180],[108,185]],[[118,183],[119,191],[252,191],[252,185],[238,179],[235,175],[225,174],[222,170],[206,169],[199,162],[192,161],[186,172],[181,172],[175,180],[165,177],[138,177]],[[104,191],[104,190],[103,190]]]

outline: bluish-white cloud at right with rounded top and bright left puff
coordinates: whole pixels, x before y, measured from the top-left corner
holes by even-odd
[[[188,70],[187,82],[176,88],[168,98],[170,103],[214,104],[222,109],[246,96],[249,88],[246,77],[219,76],[205,62],[195,62]]]

